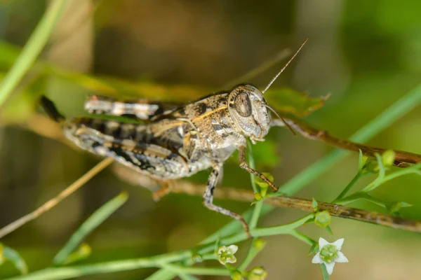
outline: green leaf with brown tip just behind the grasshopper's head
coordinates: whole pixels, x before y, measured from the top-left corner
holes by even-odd
[[[290,88],[277,88],[267,90],[265,98],[276,111],[293,113],[296,116],[307,116],[323,106],[326,97],[311,98],[303,92]]]

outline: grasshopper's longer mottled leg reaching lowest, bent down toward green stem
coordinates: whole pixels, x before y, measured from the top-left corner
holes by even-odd
[[[210,176],[208,179],[208,185],[206,187],[205,193],[203,193],[203,204],[210,210],[216,211],[220,214],[230,216],[236,220],[238,220],[241,225],[243,226],[244,230],[249,239],[251,239],[250,230],[248,229],[248,224],[244,220],[243,216],[240,214],[236,214],[228,209],[216,206],[213,204],[213,191],[215,190],[218,183],[220,183],[222,179],[222,163],[218,163],[213,166],[212,172],[210,172]]]

